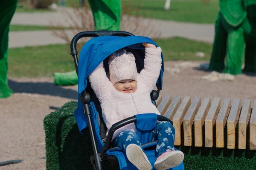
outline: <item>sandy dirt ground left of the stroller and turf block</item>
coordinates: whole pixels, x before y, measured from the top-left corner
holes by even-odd
[[[44,170],[44,116],[64,103],[76,100],[73,87],[58,87],[52,78],[10,79],[16,93],[0,99],[0,161],[24,159],[18,164],[0,167],[1,170]]]

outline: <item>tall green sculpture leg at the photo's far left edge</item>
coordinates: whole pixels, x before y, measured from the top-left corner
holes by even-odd
[[[2,0],[0,5],[0,98],[9,97],[13,91],[8,87],[8,41],[9,26],[17,7],[17,0]]]

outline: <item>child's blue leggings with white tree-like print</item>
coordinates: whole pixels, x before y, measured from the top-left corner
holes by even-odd
[[[170,122],[163,121],[157,123],[151,132],[151,141],[157,140],[156,155],[157,158],[165,153],[167,149],[174,150],[175,129]],[[122,131],[116,138],[115,146],[121,148],[124,152],[129,144],[137,144],[141,147],[140,138],[131,130]],[[142,149],[143,150],[143,149]],[[143,150],[144,151],[144,150]]]

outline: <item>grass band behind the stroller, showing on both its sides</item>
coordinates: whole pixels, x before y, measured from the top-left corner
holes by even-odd
[[[211,44],[179,37],[155,42],[162,48],[164,60],[209,60],[212,49]],[[205,57],[196,57],[198,51]],[[75,69],[70,45],[12,48],[8,60],[10,77],[52,77],[54,72]]]

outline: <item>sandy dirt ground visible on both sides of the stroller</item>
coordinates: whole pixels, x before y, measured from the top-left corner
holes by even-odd
[[[256,99],[256,77],[241,75],[233,82],[208,82],[200,80],[200,77],[209,73],[195,68],[180,68],[179,74],[170,74],[168,68],[177,63],[180,62],[165,62],[163,96]],[[77,86],[54,86],[52,78],[12,78],[9,85],[15,94],[8,99],[0,99],[0,162],[24,161],[0,169],[44,170],[45,159],[39,159],[45,156],[44,116],[66,102],[76,101]]]

